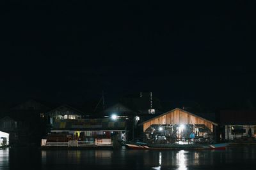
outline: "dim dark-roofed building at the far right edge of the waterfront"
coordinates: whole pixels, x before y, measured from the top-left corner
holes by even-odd
[[[220,111],[221,138],[226,140],[256,137],[255,111]]]

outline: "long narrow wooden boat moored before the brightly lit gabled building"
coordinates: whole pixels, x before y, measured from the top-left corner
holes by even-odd
[[[225,150],[229,143],[216,143],[206,145],[147,145],[146,143],[125,143],[125,145],[133,150]]]

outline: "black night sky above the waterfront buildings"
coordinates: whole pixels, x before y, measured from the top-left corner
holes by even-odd
[[[1,1],[0,99],[255,98],[255,1]]]

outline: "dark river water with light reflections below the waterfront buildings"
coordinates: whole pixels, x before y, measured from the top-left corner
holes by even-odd
[[[0,150],[0,169],[256,169],[256,147],[227,150]]]

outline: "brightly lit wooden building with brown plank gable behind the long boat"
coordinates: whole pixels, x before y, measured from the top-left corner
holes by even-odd
[[[188,111],[176,108],[151,118],[140,125],[143,125],[145,141],[174,143],[191,141],[191,134],[195,136],[195,141],[198,142],[213,141],[217,124]]]

